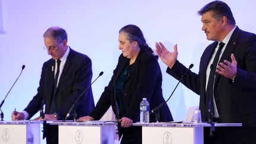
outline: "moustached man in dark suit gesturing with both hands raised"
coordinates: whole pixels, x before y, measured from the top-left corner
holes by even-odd
[[[256,35],[235,25],[225,2],[213,1],[200,9],[202,30],[213,40],[201,56],[199,73],[188,71],[181,81],[200,95],[201,116],[210,123],[242,123],[242,127],[220,128],[204,143],[256,142]],[[178,60],[177,44],[168,52],[156,43],[167,72],[180,79],[187,71]]]

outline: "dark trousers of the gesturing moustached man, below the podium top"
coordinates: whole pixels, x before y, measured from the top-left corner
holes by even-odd
[[[256,127],[215,127],[209,136],[210,127],[204,127],[204,144],[255,144]]]

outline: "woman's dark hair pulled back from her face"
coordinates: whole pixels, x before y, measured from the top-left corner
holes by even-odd
[[[121,30],[119,30],[119,33],[126,33],[127,39],[130,42],[137,41],[140,49],[153,53],[153,50],[151,49],[151,47],[149,47],[148,44],[146,43],[146,40],[143,36],[142,31],[136,25],[133,25],[133,24],[126,25],[123,28],[121,28]]]

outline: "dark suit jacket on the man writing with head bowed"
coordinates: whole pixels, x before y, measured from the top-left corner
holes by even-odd
[[[55,60],[50,59],[44,63],[39,88],[37,94],[33,97],[27,108],[24,110],[28,112],[29,119],[40,110],[41,102],[44,99],[45,92],[45,113],[49,114],[50,104],[53,94]],[[56,113],[61,119],[64,119],[72,104],[75,103],[76,98],[89,87],[92,78],[92,64],[91,59],[82,53],[75,52],[70,49],[69,55],[66,59],[62,74],[60,75],[57,92],[55,95]],[[89,87],[84,95],[79,99],[74,108],[78,117],[86,116],[94,108],[94,99],[92,97],[92,89]]]

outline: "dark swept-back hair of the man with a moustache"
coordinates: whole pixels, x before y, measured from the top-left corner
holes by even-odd
[[[208,11],[213,11],[214,18],[221,18],[225,16],[228,19],[228,23],[235,25],[235,18],[233,18],[233,14],[231,8],[225,2],[222,1],[212,1],[207,5],[204,5],[203,8],[198,11],[199,15],[203,15]]]

